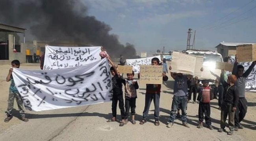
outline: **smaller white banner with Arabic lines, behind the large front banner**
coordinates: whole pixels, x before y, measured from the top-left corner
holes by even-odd
[[[45,46],[44,70],[76,67],[100,60],[100,47]]]

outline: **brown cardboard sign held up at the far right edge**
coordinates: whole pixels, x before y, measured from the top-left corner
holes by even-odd
[[[249,62],[256,60],[256,44],[237,45],[236,54],[239,62]]]

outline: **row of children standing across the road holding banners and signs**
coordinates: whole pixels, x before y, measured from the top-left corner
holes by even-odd
[[[119,103],[119,109],[121,111],[121,122],[119,126],[124,126],[128,122],[129,112],[132,114],[132,124],[136,124],[135,121],[135,107],[136,107],[136,98],[137,98],[137,92],[136,90],[139,89],[139,85],[136,80],[134,80],[134,72],[127,74],[127,79],[124,80],[121,76],[121,74],[117,71],[116,66],[111,61],[110,57],[104,56],[108,59],[109,63],[112,65],[110,68],[111,74],[112,74],[112,84],[113,84],[113,97],[112,97],[112,115],[113,117],[109,119],[107,122],[113,122],[117,121],[117,103]],[[249,67],[249,69],[243,73],[244,68],[242,65],[237,65],[237,56],[236,61],[234,63],[234,69],[231,75],[226,76],[225,73],[221,73],[220,81],[221,81],[221,87],[223,87],[223,96],[222,103],[220,106],[221,109],[221,128],[218,130],[219,132],[223,132],[224,128],[226,127],[226,118],[228,116],[228,125],[230,128],[230,131],[228,132],[229,135],[233,134],[234,130],[238,130],[238,128],[242,129],[243,126],[240,124],[240,122],[245,117],[245,114],[247,112],[247,100],[245,99],[245,83],[246,78],[254,68],[256,61],[252,62],[252,65]],[[160,60],[158,58],[153,58],[151,60],[152,65],[160,65]],[[19,68],[20,62],[18,60],[13,60],[11,62],[12,67]],[[166,76],[166,66],[165,66],[165,72],[163,72],[163,81],[167,81],[168,77]],[[169,68],[171,70],[171,67]],[[7,75],[6,81],[11,81],[11,85],[9,88],[9,99],[8,99],[8,108],[6,111],[6,119],[4,119],[5,122],[8,122],[12,118],[11,110],[13,108],[13,102],[14,98],[16,98],[19,111],[20,111],[20,117],[23,121],[28,121],[28,119],[25,117],[23,105],[22,105],[22,98],[20,97],[20,94],[15,87],[15,83],[12,78],[13,69],[11,68],[9,70],[9,74]],[[203,68],[201,68],[201,71],[203,71]],[[223,71],[224,72],[224,71]],[[194,79],[193,80],[193,92],[194,92],[194,99],[193,102],[195,102],[195,97],[197,93],[197,86],[198,86],[198,78],[193,78],[191,75],[184,75],[182,73],[173,73],[171,72],[171,76],[174,79],[174,96],[173,96],[173,102],[171,105],[171,114],[169,119],[169,124],[167,125],[168,128],[173,127],[174,120],[177,116],[177,110],[182,111],[181,119],[182,119],[182,125],[189,128],[189,125],[187,123],[187,102],[188,98],[191,99],[191,92],[188,93],[188,85],[187,81],[188,79]],[[227,77],[227,78],[226,78]],[[138,74],[139,78],[139,74]],[[202,80],[202,86],[199,87],[198,90],[198,97],[197,100],[199,101],[199,107],[198,107],[198,119],[199,124],[197,128],[203,127],[203,120],[205,119],[206,125],[209,129],[213,130],[213,127],[211,126],[211,117],[210,117],[210,100],[213,99],[211,96],[211,88],[208,85],[208,80]],[[123,99],[123,91],[122,91],[122,85],[124,85],[124,94],[125,94],[125,101]],[[160,91],[161,91],[161,85],[160,84],[147,84],[146,86],[146,94],[145,94],[145,107],[143,110],[143,118],[139,122],[139,124],[143,125],[147,122],[148,112],[150,108],[150,104],[152,100],[154,101],[154,118],[155,122],[154,124],[156,126],[160,125],[159,122],[159,112],[160,112]],[[189,96],[190,95],[190,96]],[[125,105],[124,105],[125,104]]]

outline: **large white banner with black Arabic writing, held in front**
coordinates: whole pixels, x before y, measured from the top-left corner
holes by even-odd
[[[42,111],[110,101],[107,59],[54,70],[13,69],[13,79],[28,110]]]

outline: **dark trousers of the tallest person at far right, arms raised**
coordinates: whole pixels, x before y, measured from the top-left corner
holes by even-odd
[[[245,98],[239,98],[238,105],[235,113],[235,126],[239,127],[240,122],[243,120],[247,112],[247,100]]]

